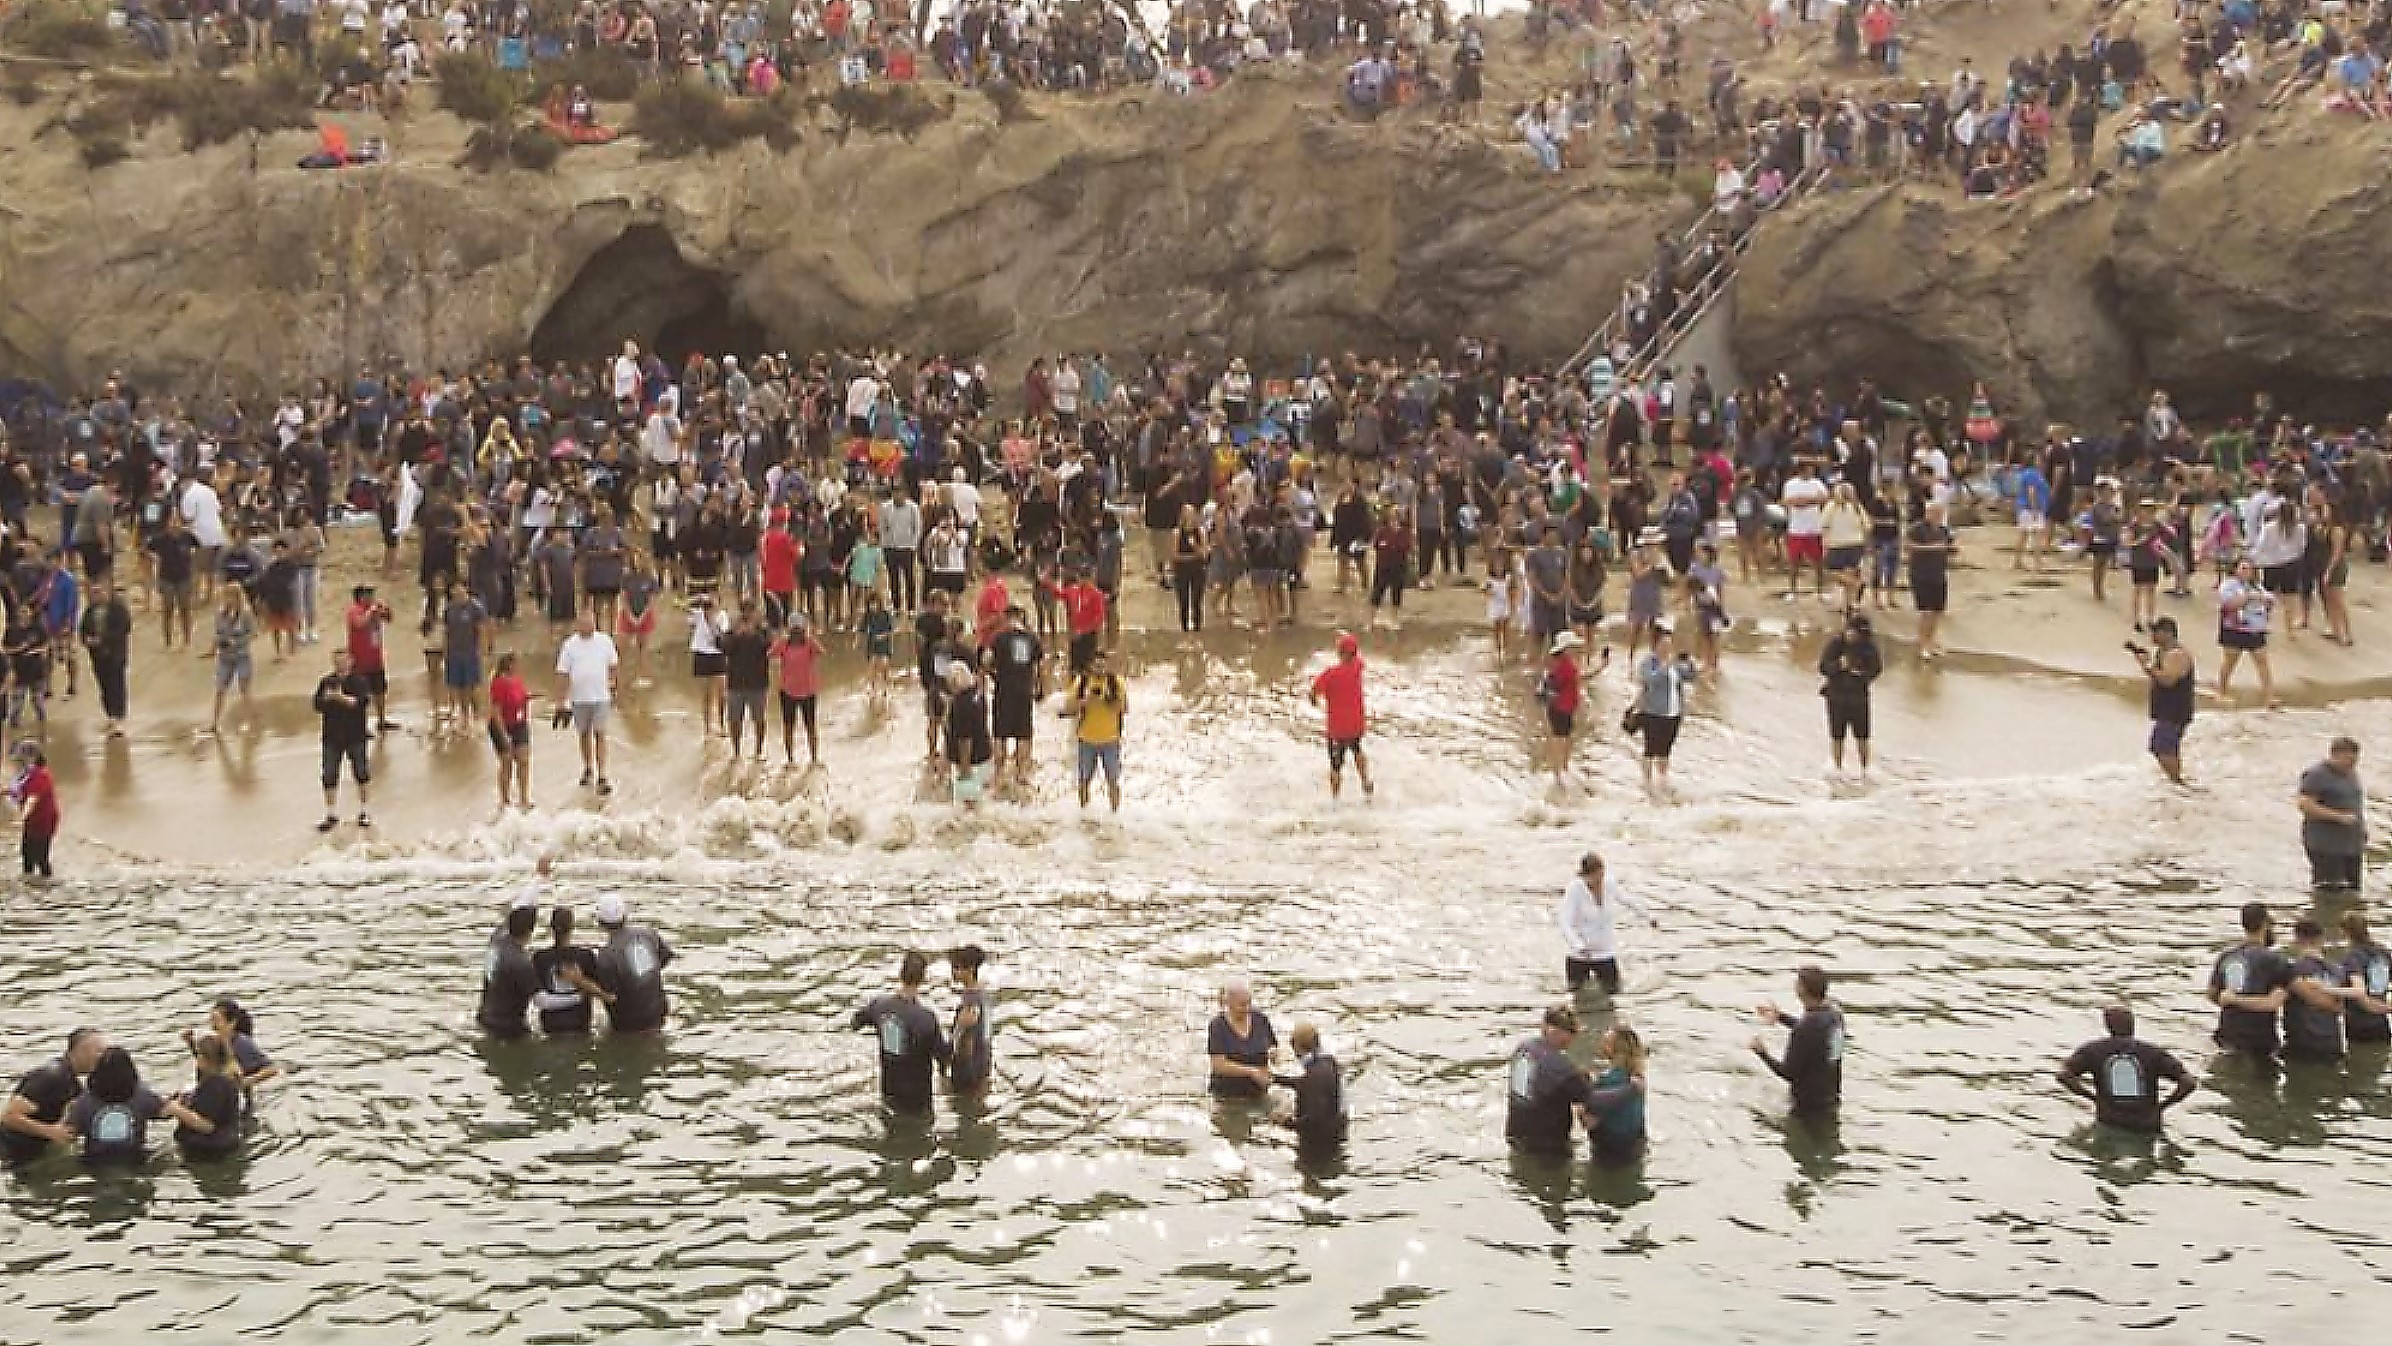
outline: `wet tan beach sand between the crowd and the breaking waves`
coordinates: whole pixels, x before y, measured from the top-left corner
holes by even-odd
[[[2126,622],[2126,583],[2112,586],[2107,607],[2095,605],[2081,562],[2048,562],[2031,576],[2009,564],[2007,526],[1981,526],[1961,533],[1961,559],[1954,567],[1952,612],[1945,643],[1952,657],[1921,665],[1911,650],[1916,614],[1897,607],[1880,614],[1887,641],[1887,677],[1878,696],[1878,746],[1892,777],[1938,775],[2014,775],[2043,767],[2081,767],[2141,760],[2141,691],[2131,657],[2119,648],[2131,636]],[[1134,538],[1136,543],[1139,538]],[[1136,555],[1136,547],[1134,547]],[[371,528],[335,533],[332,564],[325,574],[325,634],[340,629],[337,605],[359,579],[376,571],[380,550]],[[1155,736],[1158,722],[1172,724],[1172,753],[1206,765],[1201,751],[1186,751],[1179,736],[1206,734],[1206,700],[1215,689],[1234,686],[1282,696],[1289,734],[1306,734],[1301,674],[1325,660],[1337,629],[1366,629],[1368,607],[1359,593],[1337,595],[1328,583],[1335,567],[1320,557],[1316,583],[1304,595],[1304,622],[1292,631],[1253,631],[1208,622],[1198,641],[1179,636],[1170,593],[1151,581],[1131,581],[1122,610],[1122,672],[1131,679],[1139,712],[1129,729],[1136,755],[1141,736]],[[321,851],[392,854],[447,837],[486,830],[500,820],[495,808],[495,765],[478,724],[435,729],[431,696],[435,677],[426,669],[423,641],[411,617],[421,593],[411,564],[399,574],[373,576],[383,598],[399,614],[390,629],[392,715],[402,729],[373,748],[376,830],[361,837],[349,822],[356,813],[344,787],[342,827],[318,837],[318,720],[309,708],[316,679],[330,662],[330,646],[301,648],[289,662],[273,662],[258,646],[258,684],[249,712],[234,700],[225,712],[225,732],[206,736],[213,662],[182,650],[167,655],[158,629],[139,600],[134,605],[134,669],[129,736],[108,741],[100,734],[98,703],[81,679],[81,696],[53,700],[50,760],[60,779],[67,813],[60,842],[62,873],[74,875],[122,861],[165,861],[177,865],[256,865],[289,863]],[[1019,588],[1019,586],[1017,586]],[[2174,612],[2189,636],[2203,684],[2215,679],[2217,646],[2210,579],[2193,581],[2193,598],[2165,598],[2162,612]],[[2382,567],[2361,564],[2351,579],[2351,612],[2361,643],[2335,648],[2323,636],[2277,636],[2277,689],[2287,703],[2320,705],[2349,696],[2378,696],[2387,679],[2370,648],[2380,631],[2380,607],[2392,591]],[[1241,607],[1251,610],[1251,600]],[[1615,576],[1612,607],[1622,586]],[[526,600],[529,607],[529,600]],[[1782,600],[1782,583],[1744,586],[1732,581],[1729,612],[1737,631],[1729,636],[1722,679],[1696,700],[1696,717],[1713,717],[1734,734],[1770,744],[1820,739],[1816,674],[1811,660],[1818,638],[1832,626],[1832,610],[1816,598]],[[1612,631],[1615,641],[1624,634]],[[545,622],[524,619],[502,631],[500,648],[524,655],[536,693],[553,689],[557,631]],[[206,634],[201,634],[206,643]],[[780,772],[777,720],[770,734],[770,767],[734,765],[720,739],[698,734],[696,686],[687,677],[687,624],[667,607],[646,674],[627,679],[612,734],[610,775],[617,794],[598,801],[576,789],[579,758],[572,734],[550,732],[536,705],[533,799],[543,830],[553,832],[557,813],[675,815],[725,794],[761,794],[773,799],[811,796],[844,801],[875,813],[899,810],[911,801],[945,815],[938,782],[919,772],[921,705],[904,672],[909,641],[899,638],[899,686],[885,708],[871,708],[856,684],[859,660],[852,636],[835,638],[823,698],[823,772]],[[1402,629],[1366,631],[1366,653],[1387,662],[1435,660],[1438,677],[1476,667],[1488,684],[1500,684],[1517,703],[1517,715],[1497,720],[1490,753],[1509,755],[1524,789],[1533,789],[1538,748],[1536,705],[1526,689],[1533,662],[1521,655],[1517,667],[1497,672],[1485,636],[1485,600],[1476,576],[1469,583],[1445,581],[1435,591],[1411,593]],[[1624,653],[1624,648],[1622,648]],[[629,657],[629,650],[627,650]],[[1469,677],[1457,672],[1454,677]],[[2241,712],[2256,705],[2256,677],[2237,674]],[[1591,712],[1581,717],[1579,763],[1591,772],[1627,770],[1634,758],[1617,736],[1615,722],[1624,691],[1624,662],[1595,684]],[[2203,715],[2225,710],[2203,698]],[[2036,732],[2019,734],[2026,722]],[[1060,722],[1041,724],[1045,765],[1060,772]],[[1383,724],[1385,748],[1399,751],[1399,724]],[[2198,760],[2203,734],[2196,732]],[[1816,748],[1825,763],[1825,746]],[[1220,763],[1215,763],[1220,765]],[[919,779],[916,779],[919,777]],[[1792,784],[1792,782],[1789,782]],[[1057,787],[1067,794],[1067,787]],[[1048,794],[1057,794],[1050,789]],[[1131,787],[1131,808],[1139,801]],[[1564,796],[1560,803],[1569,803]],[[509,825],[521,825],[512,820]],[[567,825],[569,827],[569,825]],[[531,827],[521,827],[529,837]],[[502,842],[500,842],[502,844]],[[526,842],[529,844],[529,842]]]

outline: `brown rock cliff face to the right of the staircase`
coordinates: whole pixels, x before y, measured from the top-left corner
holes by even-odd
[[[2392,406],[2392,131],[2301,108],[2217,155],[2182,153],[2091,201],[1961,201],[1856,186],[1772,220],[1746,258],[1737,354],[1749,375],[2098,423],[2153,387],[2198,414],[2270,390],[2292,411],[2378,421]]]

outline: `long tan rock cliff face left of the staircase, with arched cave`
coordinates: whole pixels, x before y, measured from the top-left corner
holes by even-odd
[[[1318,72],[1203,98],[976,98],[916,141],[816,131],[553,175],[452,167],[419,112],[397,163],[304,172],[306,134],[86,170],[55,110],[0,110],[0,375],[81,387],[280,385],[399,354],[596,354],[622,337],[806,349],[892,342],[993,366],[1060,349],[1265,356],[1490,332],[1572,351],[1682,196],[1533,172],[1423,120],[1359,124]]]

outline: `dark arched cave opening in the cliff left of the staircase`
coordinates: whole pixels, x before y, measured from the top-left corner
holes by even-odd
[[[624,339],[679,363],[691,351],[756,354],[768,337],[727,275],[684,258],[663,225],[631,225],[591,253],[548,306],[531,330],[531,359],[593,361]]]

